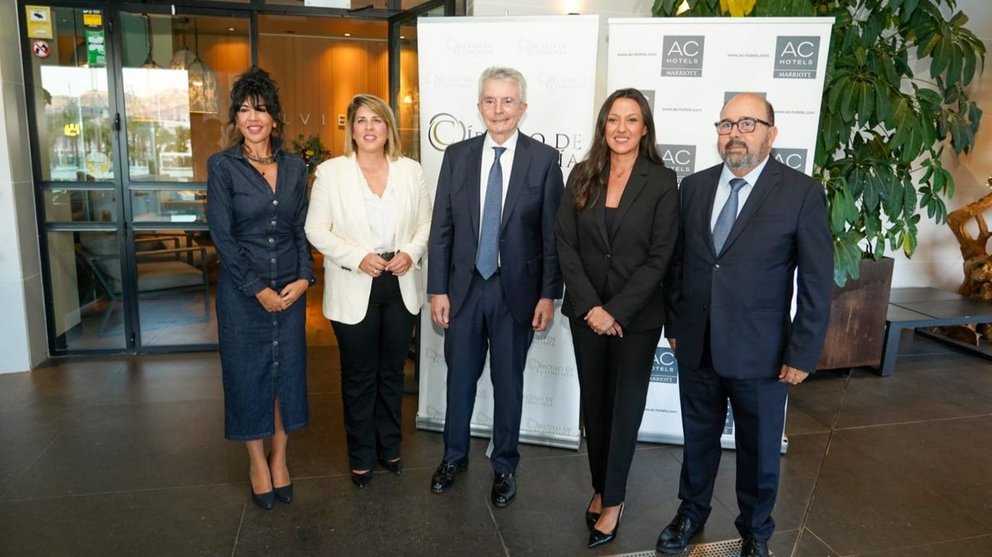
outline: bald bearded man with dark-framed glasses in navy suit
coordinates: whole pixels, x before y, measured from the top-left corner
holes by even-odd
[[[681,505],[657,549],[685,550],[709,516],[729,400],[741,555],[766,556],[786,398],[823,348],[833,250],[823,186],[769,157],[778,131],[771,104],[740,94],[720,118],[724,162],[682,181],[681,250],[665,282],[685,447]]]

